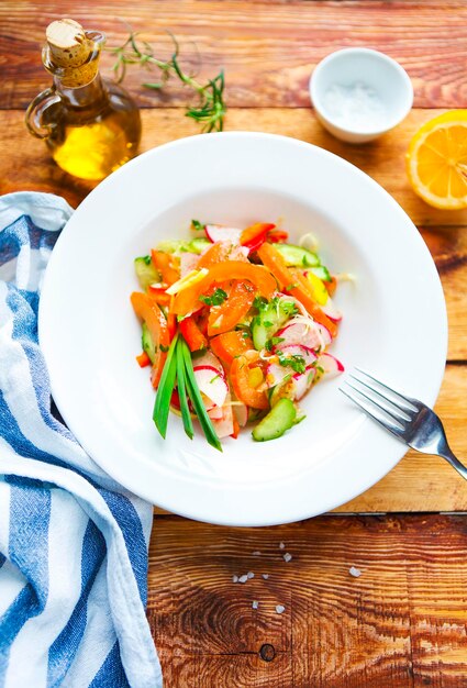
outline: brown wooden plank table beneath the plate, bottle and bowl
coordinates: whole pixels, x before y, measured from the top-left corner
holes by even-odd
[[[24,108],[49,82],[40,57],[45,26],[60,16],[103,30],[112,45],[124,37],[119,18],[125,19],[163,52],[162,31],[170,29],[193,63],[194,40],[203,76],[225,68],[227,130],[314,143],[396,198],[420,229],[443,282],[449,347],[436,408],[453,450],[466,459],[467,210],[423,203],[408,185],[403,159],[423,122],[467,107],[465,0],[93,0],[79,9],[71,0],[3,1],[1,190],[52,191],[76,206],[91,185],[62,173],[23,124]],[[308,98],[313,67],[344,46],[388,53],[415,89],[407,120],[359,147],[326,134]],[[109,67],[108,57],[103,63]],[[143,149],[198,131],[184,118],[185,91],[143,91],[142,80],[134,71],[126,84],[144,108]],[[466,687],[466,484],[442,459],[413,452],[366,493],[301,523],[238,530],[156,511],[147,613],[166,687]],[[280,542],[293,556],[289,563]],[[362,570],[358,578],[351,566]],[[254,579],[232,582],[247,570]],[[282,614],[277,604],[285,606]]]

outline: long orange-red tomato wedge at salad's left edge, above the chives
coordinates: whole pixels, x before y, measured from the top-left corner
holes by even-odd
[[[164,364],[167,358],[167,351],[170,346],[170,335],[167,320],[157,303],[147,293],[134,291],[130,298],[134,312],[146,323],[156,348],[153,368],[151,371],[151,381],[153,387],[157,389]]]

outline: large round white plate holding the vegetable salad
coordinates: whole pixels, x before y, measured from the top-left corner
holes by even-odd
[[[283,437],[248,431],[220,454],[191,442],[170,417],[152,422],[154,392],[140,369],[141,328],[130,306],[133,258],[188,235],[192,218],[246,226],[282,219],[297,240],[312,231],[334,271],[352,271],[333,351],[433,404],[446,357],[440,279],[419,232],[396,201],[345,160],[269,134],[199,135],[160,146],[100,184],[62,233],[46,273],[40,341],[52,390],[85,450],[125,487],[176,513],[233,525],[304,519],[356,497],[405,447],[322,381],[307,419]]]

